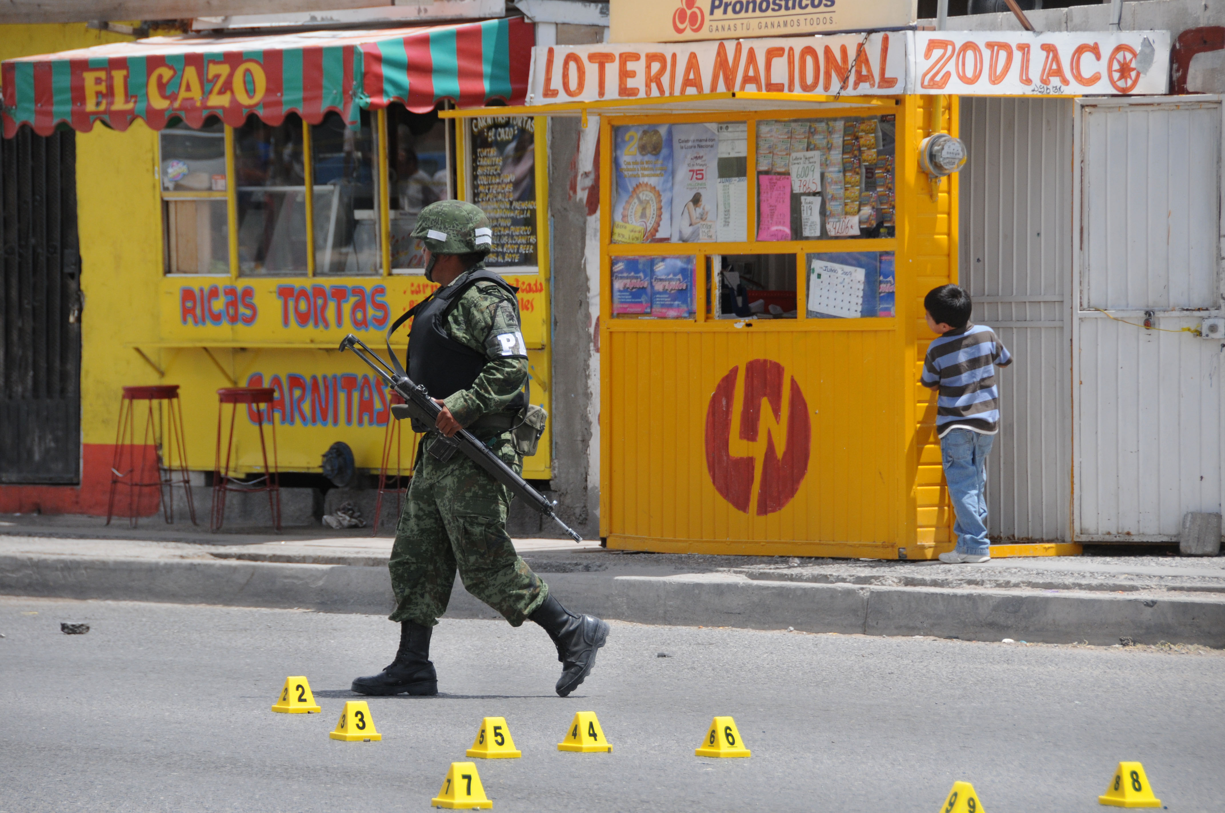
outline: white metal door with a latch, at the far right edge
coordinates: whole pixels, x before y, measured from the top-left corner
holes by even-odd
[[[1220,100],[1078,108],[1074,536],[1172,541],[1221,506]]]

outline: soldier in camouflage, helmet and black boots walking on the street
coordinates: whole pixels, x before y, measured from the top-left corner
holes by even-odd
[[[441,288],[415,306],[408,370],[442,406],[421,438],[392,547],[391,585],[399,650],[382,672],[353,681],[360,694],[437,694],[430,634],[446,612],[456,567],[468,593],[512,627],[544,627],[562,664],[557,694],[566,697],[595,665],[609,626],[570,612],[514,552],[506,533],[512,495],[442,436],[467,429],[507,465],[522,471],[511,427],[527,405],[527,348],[514,289],[485,269],[492,231],[485,213],[462,201],[421,209],[413,236],[428,250],[425,277]],[[401,318],[401,322],[404,317]],[[398,322],[397,322],[398,324]]]

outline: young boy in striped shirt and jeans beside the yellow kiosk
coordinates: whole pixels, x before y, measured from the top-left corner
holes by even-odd
[[[936,432],[944,463],[944,480],[957,522],[957,550],[941,553],[948,563],[986,562],[987,454],[1000,431],[1000,391],[995,369],[1012,364],[1012,355],[986,324],[970,322],[970,295],[957,285],[941,285],[924,298],[927,327],[940,338],[927,348],[922,384],[940,389]]]

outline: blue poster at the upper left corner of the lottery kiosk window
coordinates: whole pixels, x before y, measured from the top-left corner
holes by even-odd
[[[673,126],[616,127],[612,242],[673,238]],[[718,138],[715,137],[715,143]],[[710,193],[714,198],[714,193]],[[714,201],[712,200],[712,206]],[[713,223],[713,220],[712,220]]]

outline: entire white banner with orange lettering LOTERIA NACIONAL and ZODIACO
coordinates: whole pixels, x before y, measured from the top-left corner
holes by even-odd
[[[528,104],[704,93],[1133,96],[1170,82],[1165,31],[942,31],[533,49]]]

